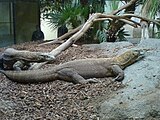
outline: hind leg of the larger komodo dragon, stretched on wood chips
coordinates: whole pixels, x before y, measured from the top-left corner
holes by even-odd
[[[85,83],[96,83],[97,80],[94,79],[84,79],[81,75],[79,75],[75,70],[70,68],[64,68],[59,70],[58,76],[60,79],[63,79],[68,82],[73,82],[75,84],[85,84]]]

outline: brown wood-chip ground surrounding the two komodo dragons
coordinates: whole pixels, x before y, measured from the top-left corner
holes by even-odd
[[[16,49],[49,52],[58,45],[38,46],[31,42],[14,45]],[[3,52],[5,48],[1,48]],[[99,58],[101,50],[91,51],[82,46],[70,47],[57,57],[51,67],[81,58]],[[44,68],[43,67],[43,68]],[[73,84],[53,81],[43,84],[19,84],[0,74],[1,120],[98,120],[100,98],[123,87],[112,83],[112,78],[101,78],[99,83]]]

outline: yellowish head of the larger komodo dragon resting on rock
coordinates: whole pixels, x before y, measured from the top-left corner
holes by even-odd
[[[114,60],[121,66],[122,69],[142,59],[144,53],[142,50],[128,50],[127,52],[117,56]]]

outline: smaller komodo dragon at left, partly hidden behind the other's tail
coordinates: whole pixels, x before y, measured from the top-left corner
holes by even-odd
[[[0,55],[0,64],[1,69],[20,70],[24,66],[29,67],[31,62],[53,61],[54,59],[55,57],[48,53],[30,52],[26,50],[7,48]]]

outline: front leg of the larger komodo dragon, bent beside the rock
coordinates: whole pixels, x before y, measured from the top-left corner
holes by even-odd
[[[116,76],[113,80],[121,82],[124,79],[124,71],[118,65],[113,65],[111,69],[113,74]]]

